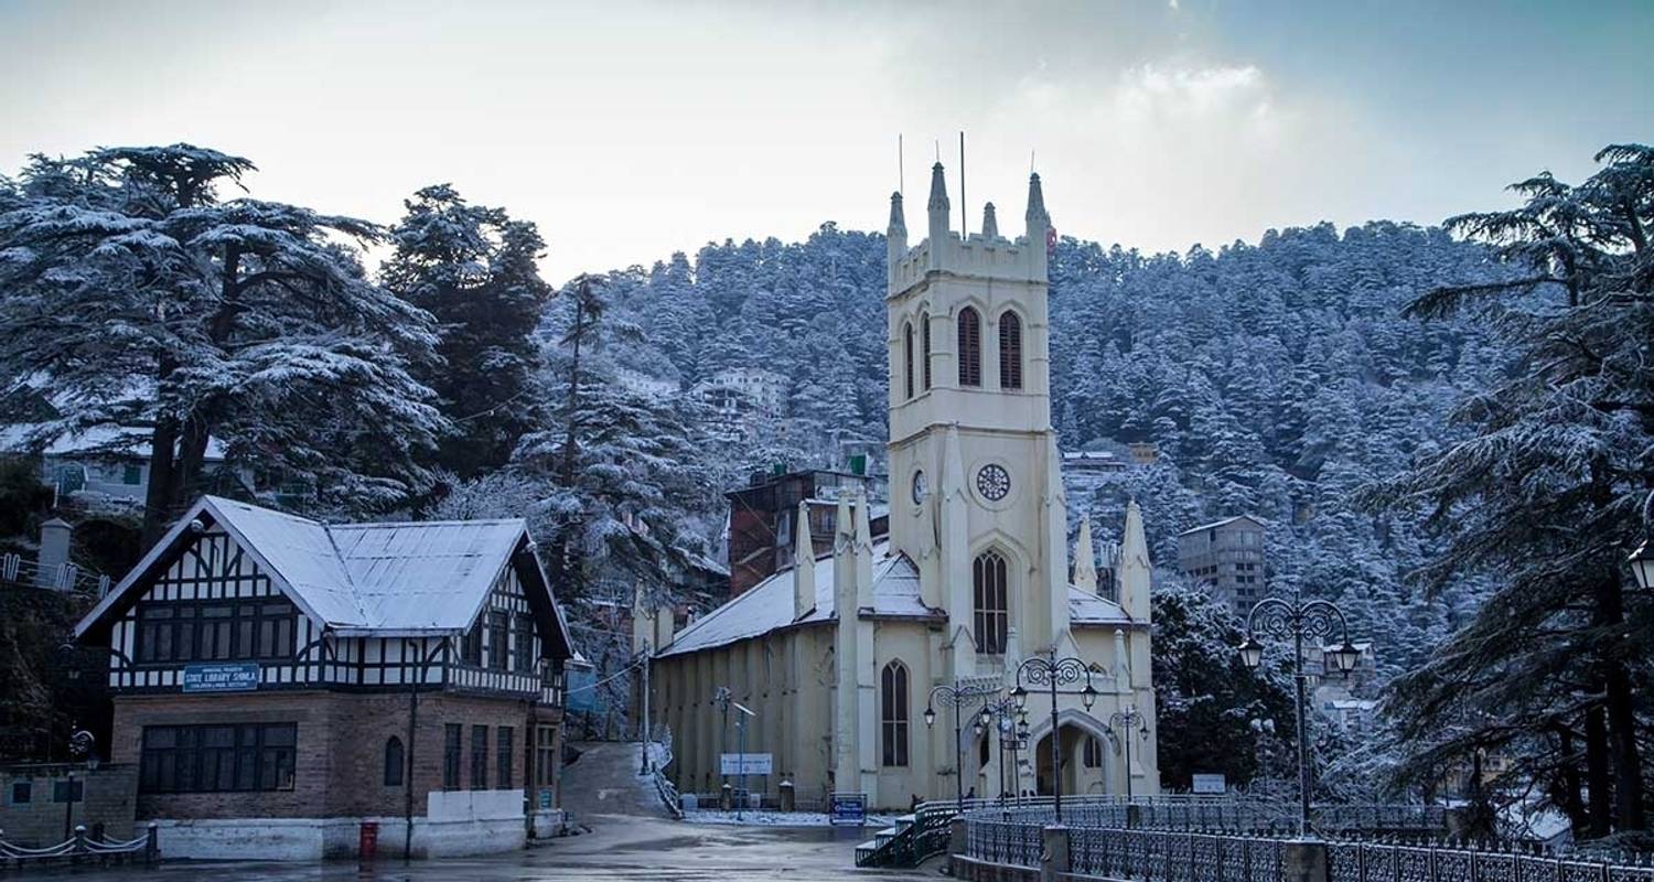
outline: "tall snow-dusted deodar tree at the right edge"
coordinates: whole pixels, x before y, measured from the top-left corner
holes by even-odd
[[[1459,409],[1470,437],[1374,493],[1449,536],[1427,584],[1500,581],[1393,683],[1403,768],[1432,781],[1502,751],[1580,836],[1647,829],[1654,659],[1654,599],[1624,566],[1654,488],[1654,149],[1596,159],[1578,187],[1542,174],[1512,187],[1522,207],[1447,222],[1522,271],[1437,288],[1411,313],[1480,311],[1522,357]]]

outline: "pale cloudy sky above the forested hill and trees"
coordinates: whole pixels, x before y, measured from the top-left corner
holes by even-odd
[[[392,223],[453,182],[539,223],[551,281],[708,240],[958,217],[1145,250],[1434,223],[1654,139],[1654,3],[23,3],[0,0],[0,174],[187,141],[253,195]],[[954,222],[958,223],[958,220]]]

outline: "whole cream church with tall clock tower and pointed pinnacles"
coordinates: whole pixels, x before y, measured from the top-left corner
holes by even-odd
[[[978,233],[949,230],[949,217],[939,162],[923,242],[908,245],[901,194],[890,199],[888,530],[873,534],[865,493],[844,493],[830,553],[799,554],[681,632],[670,611],[638,596],[633,639],[650,654],[650,713],[672,733],[667,774],[683,793],[739,784],[719,755],[743,743],[771,758],[748,788],[776,794],[786,783],[801,809],[832,794],[895,809],[1055,784],[1064,794],[1159,791],[1136,503],[1115,584],[1098,586],[1085,518],[1070,566],[1050,420],[1054,233],[1039,175],[1022,237],[999,235],[992,204]],[[794,520],[799,549],[812,549],[807,508],[801,501]],[[1088,675],[1062,687],[1055,733],[1047,687],[1017,675],[1034,657],[1080,659]],[[1019,682],[1025,738],[1014,712],[976,726],[986,702],[1014,707]],[[1082,695],[1087,683],[1095,692]],[[941,685],[991,693],[964,703],[959,743],[954,707],[931,700]]]

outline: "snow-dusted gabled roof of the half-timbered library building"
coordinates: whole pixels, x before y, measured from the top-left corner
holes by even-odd
[[[74,635],[83,635],[134,586],[167,566],[194,521],[223,528],[306,616],[341,635],[463,632],[521,553],[531,561],[521,571],[531,582],[524,584],[529,599],[544,594],[549,609],[538,612],[547,614],[572,652],[562,609],[528,551],[528,525],[519,518],[326,525],[220,496],[202,496],[179,518],[74,627]]]

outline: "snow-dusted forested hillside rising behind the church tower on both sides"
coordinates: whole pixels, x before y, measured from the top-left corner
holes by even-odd
[[[1386,672],[1409,667],[1479,587],[1411,592],[1401,574],[1426,539],[1351,493],[1436,450],[1449,409],[1500,371],[1503,349],[1474,323],[1401,316],[1436,285],[1495,271],[1477,245],[1384,222],[1188,255],[1062,240],[1050,290],[1062,445],[1163,452],[1121,482],[1072,488],[1070,516],[1090,511],[1110,538],[1135,495],[1169,576],[1178,531],[1255,513],[1270,523],[1272,586],[1338,597]],[[647,334],[629,364],[685,387],[762,366],[792,379],[794,419],[883,437],[883,237],[829,223],[802,243],[708,245],[607,281],[614,309]]]

